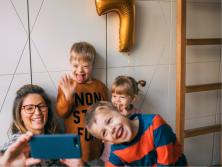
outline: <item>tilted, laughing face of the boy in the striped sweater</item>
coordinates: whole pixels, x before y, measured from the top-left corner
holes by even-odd
[[[88,130],[104,142],[113,144],[129,142],[132,139],[130,120],[117,111],[98,112]]]

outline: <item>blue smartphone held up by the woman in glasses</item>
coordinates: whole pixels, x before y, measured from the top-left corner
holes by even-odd
[[[34,135],[29,141],[31,157],[39,159],[81,158],[80,138],[73,134]]]

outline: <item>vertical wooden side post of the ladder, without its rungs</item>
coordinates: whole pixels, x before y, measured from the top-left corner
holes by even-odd
[[[176,25],[176,135],[183,146],[186,89],[186,0],[177,0]]]

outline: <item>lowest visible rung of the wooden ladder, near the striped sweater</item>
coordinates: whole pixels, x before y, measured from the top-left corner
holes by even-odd
[[[188,137],[199,136],[199,135],[204,135],[204,134],[218,132],[218,131],[221,131],[220,124],[185,130],[184,137],[188,138]]]

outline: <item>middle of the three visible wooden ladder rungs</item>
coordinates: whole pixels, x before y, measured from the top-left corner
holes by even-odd
[[[186,86],[186,93],[202,92],[202,91],[209,91],[209,90],[218,90],[218,89],[221,89],[221,88],[222,88],[222,83],[189,85],[189,86]]]

